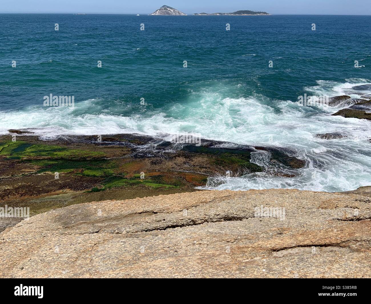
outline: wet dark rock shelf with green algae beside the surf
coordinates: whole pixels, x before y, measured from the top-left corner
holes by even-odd
[[[265,151],[270,172],[279,176],[295,176],[306,165],[289,149],[203,139],[174,144],[160,137],[110,134],[42,141],[17,130],[9,133],[17,134],[15,142],[12,135],[0,137],[0,207],[30,207],[31,215],[77,203],[197,191],[208,177],[227,171],[241,176],[267,170],[250,161],[257,151]],[[1,222],[0,230],[6,225]]]

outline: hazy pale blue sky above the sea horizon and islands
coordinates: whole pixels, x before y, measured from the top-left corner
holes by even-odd
[[[272,14],[371,15],[371,0],[1,0],[0,12],[148,14],[164,4],[187,14],[248,9]]]

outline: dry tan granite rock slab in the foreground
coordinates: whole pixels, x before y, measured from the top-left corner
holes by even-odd
[[[199,191],[50,210],[0,233],[0,277],[370,278],[366,190]]]

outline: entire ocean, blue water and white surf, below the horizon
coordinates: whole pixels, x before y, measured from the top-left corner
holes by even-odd
[[[371,16],[0,14],[0,134],[199,134],[306,160],[295,177],[219,177],[203,189],[357,189],[371,184],[371,121],[302,107],[298,97],[359,98],[352,87],[371,84],[370,24]],[[45,107],[50,94],[73,96],[74,107]],[[332,132],[347,137],[315,137]],[[262,152],[253,161],[269,167]]]

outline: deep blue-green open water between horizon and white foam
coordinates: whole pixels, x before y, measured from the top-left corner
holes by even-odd
[[[317,80],[370,78],[370,24],[371,16],[0,14],[1,107],[39,104],[47,92],[163,107],[237,82],[228,97],[296,100]]]

